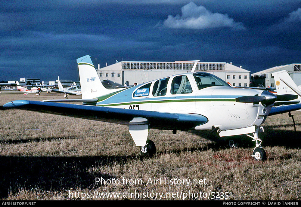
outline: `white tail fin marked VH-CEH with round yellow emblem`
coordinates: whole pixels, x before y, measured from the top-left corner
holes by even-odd
[[[272,73],[274,76],[277,95],[284,95],[284,94],[293,94],[298,95],[299,98],[301,96],[301,91],[293,81],[293,79],[288,75],[287,71],[277,71]]]

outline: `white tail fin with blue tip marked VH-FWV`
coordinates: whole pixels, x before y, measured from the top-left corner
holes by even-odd
[[[83,99],[107,95],[111,90],[104,87],[89,55],[76,59]]]

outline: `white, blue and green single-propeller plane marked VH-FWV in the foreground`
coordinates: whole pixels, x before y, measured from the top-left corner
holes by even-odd
[[[3,108],[79,117],[129,126],[129,133],[141,153],[153,155],[154,142],[147,139],[149,129],[212,130],[219,137],[244,135],[256,142],[255,160],[265,160],[266,153],[258,137],[261,124],[272,111],[277,97],[268,91],[232,88],[222,79],[206,73],[191,72],[143,83],[130,88],[107,89],[96,73],[89,55],[77,59],[82,99],[28,101],[17,100]],[[295,96],[293,98],[296,98]],[[58,102],[83,102],[83,105]],[[278,108],[274,114],[293,111]],[[281,110],[280,110],[281,109]]]

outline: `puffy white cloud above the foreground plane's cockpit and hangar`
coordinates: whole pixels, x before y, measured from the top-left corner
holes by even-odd
[[[167,28],[183,29],[207,29],[230,27],[233,29],[245,29],[243,23],[235,22],[228,14],[212,13],[203,6],[197,6],[190,2],[182,7],[182,16],[168,15],[163,26]]]

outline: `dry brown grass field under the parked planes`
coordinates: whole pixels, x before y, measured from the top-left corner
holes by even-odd
[[[62,98],[3,91],[0,105]],[[127,126],[23,110],[0,113],[2,200],[301,199],[298,111],[292,112],[297,132],[287,113],[265,121],[259,134],[265,162],[253,160],[254,143],[246,137],[239,148],[227,148],[198,132],[151,129],[157,153],[145,158]],[[95,184],[98,178],[103,180]]]

